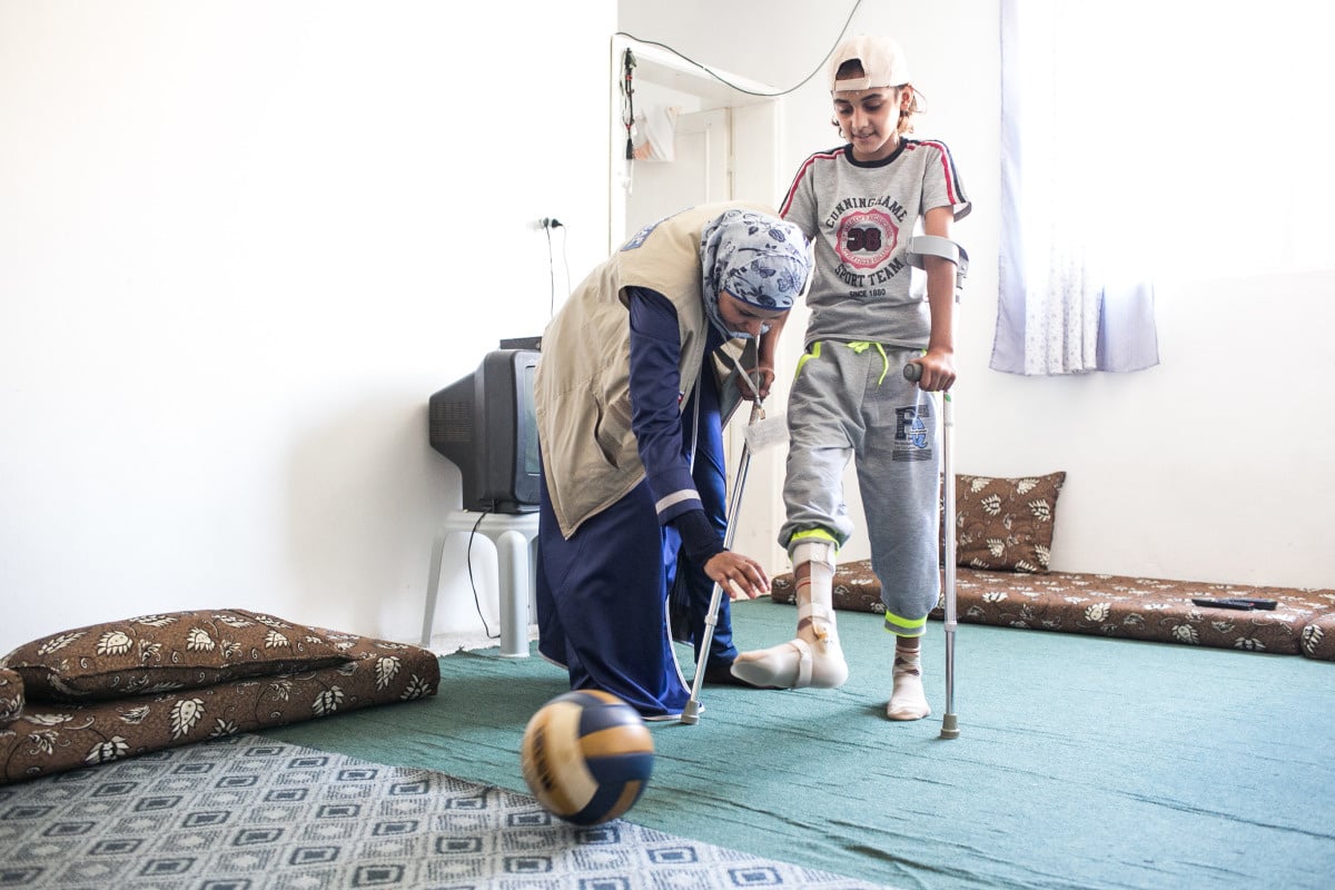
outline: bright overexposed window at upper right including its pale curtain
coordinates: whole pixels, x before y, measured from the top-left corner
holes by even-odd
[[[1153,282],[1335,268],[1335,52],[1296,0],[1003,0],[992,367],[1157,363]]]

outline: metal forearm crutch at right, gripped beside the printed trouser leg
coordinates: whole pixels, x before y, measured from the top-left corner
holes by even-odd
[[[955,263],[955,300],[960,300],[963,279],[969,271],[969,255],[948,238],[920,235],[908,246],[909,263],[924,267],[922,256],[940,256]],[[905,364],[904,378],[917,382],[922,376],[921,364]],[[955,398],[947,390],[941,394],[941,515],[945,528],[941,562],[945,563],[945,717],[941,718],[941,738],[960,738],[960,718],[955,713],[955,630],[959,626],[955,607]]]

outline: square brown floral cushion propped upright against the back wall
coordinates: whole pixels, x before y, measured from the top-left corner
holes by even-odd
[[[955,476],[955,563],[1044,572],[1065,472],[1003,479]]]

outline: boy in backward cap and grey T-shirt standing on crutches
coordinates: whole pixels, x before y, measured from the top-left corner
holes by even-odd
[[[829,84],[848,144],[808,157],[780,211],[816,243],[805,352],[788,403],[780,531],[797,586],[797,636],[742,652],[733,674],[792,689],[848,679],[832,600],[834,555],[853,531],[842,492],[853,458],[885,630],[896,640],[886,717],[916,721],[932,713],[918,643],[941,590],[930,394],[955,383],[956,272],[967,258],[949,239],[971,204],[945,144],[906,137],[922,107],[898,44],[845,40],[830,57]],[[929,238],[914,239],[920,231]],[[777,336],[772,328],[764,346],[773,350]],[[908,363],[920,366],[917,383],[905,379]]]

